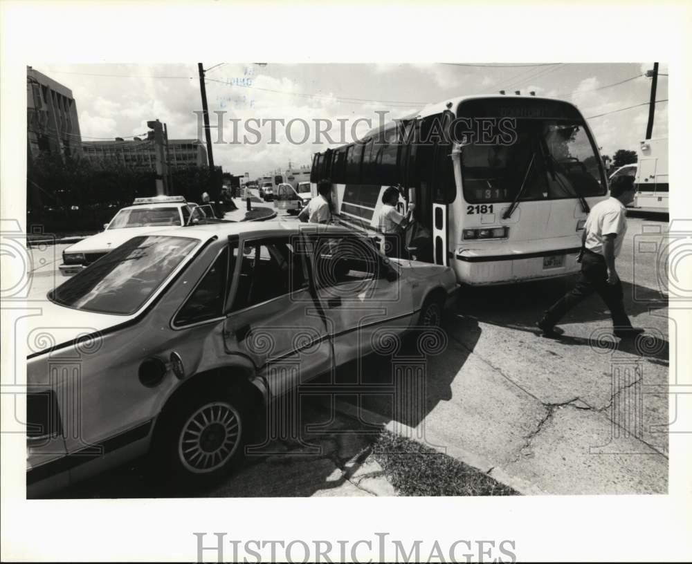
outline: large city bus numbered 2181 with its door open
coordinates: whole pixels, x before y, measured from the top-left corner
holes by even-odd
[[[401,256],[450,265],[468,285],[578,272],[581,232],[607,197],[598,145],[568,102],[469,96],[431,104],[313,156],[336,221],[382,241],[383,191],[415,204]],[[415,232],[415,236],[412,236]]]

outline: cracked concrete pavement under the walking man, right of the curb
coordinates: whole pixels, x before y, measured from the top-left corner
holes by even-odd
[[[661,232],[642,235],[652,223]],[[667,223],[629,225],[617,267],[626,310],[648,337],[612,337],[597,296],[567,314],[561,339],[538,336],[534,323],[564,281],[463,288],[444,320],[446,350],[426,361],[424,408],[402,415],[386,397],[365,407],[525,493],[666,493],[667,301],[662,265],[638,254],[635,236],[660,243]],[[368,382],[392,378],[387,362],[378,370]]]

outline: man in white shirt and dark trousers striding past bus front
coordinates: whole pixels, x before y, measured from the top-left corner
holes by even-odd
[[[635,198],[634,178],[619,176],[612,180],[610,198],[591,210],[581,235],[581,274],[574,288],[556,301],[536,325],[545,337],[559,337],[555,325],[565,313],[586,297],[598,292],[610,310],[616,337],[635,337],[644,332],[632,327],[623,305],[622,284],[615,270],[627,231],[625,206]]]

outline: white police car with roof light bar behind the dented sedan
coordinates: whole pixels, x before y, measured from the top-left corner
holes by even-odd
[[[120,209],[104,225],[103,232],[67,247],[62,253],[60,272],[64,276],[76,274],[134,236],[188,225],[195,209],[197,204],[183,196],[136,198],[133,205]]]

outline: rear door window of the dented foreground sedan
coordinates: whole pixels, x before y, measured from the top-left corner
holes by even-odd
[[[233,311],[307,288],[303,261],[290,238],[246,241]]]

